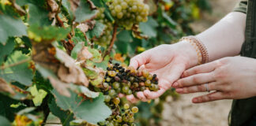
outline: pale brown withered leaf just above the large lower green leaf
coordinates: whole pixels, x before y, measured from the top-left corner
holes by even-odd
[[[72,57],[58,48],[56,48],[55,56],[58,61],[61,61],[63,64],[60,65],[60,68],[58,69],[58,77],[60,80],[66,83],[77,83],[86,87],[88,86],[88,79],[85,76],[85,73],[76,65]]]

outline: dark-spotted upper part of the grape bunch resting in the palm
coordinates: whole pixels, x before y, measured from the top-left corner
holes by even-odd
[[[124,95],[136,95],[137,91],[158,91],[158,79],[156,74],[149,74],[145,69],[138,71],[133,67],[124,68],[119,63],[108,64],[107,74],[105,75],[104,85],[111,90],[108,94],[111,98],[115,97],[118,93]]]

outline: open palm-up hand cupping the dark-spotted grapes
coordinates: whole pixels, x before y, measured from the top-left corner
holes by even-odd
[[[140,91],[137,98],[146,102],[149,99],[160,97],[171,87],[182,75],[185,69],[198,64],[198,56],[193,46],[187,42],[175,43],[171,45],[161,45],[146,50],[130,60],[130,66],[135,69],[146,69],[152,74],[156,74],[159,79],[159,91]],[[130,102],[137,102],[134,95],[126,98]]]

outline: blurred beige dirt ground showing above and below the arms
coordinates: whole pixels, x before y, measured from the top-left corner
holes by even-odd
[[[204,13],[202,19],[191,24],[197,33],[204,31],[211,25],[231,12],[238,0],[212,0],[213,13]],[[164,105],[163,126],[227,126],[228,113],[232,100],[222,100],[203,104],[193,104],[193,95],[181,95],[177,102],[168,102]]]

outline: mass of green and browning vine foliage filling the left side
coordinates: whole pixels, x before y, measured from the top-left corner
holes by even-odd
[[[149,0],[137,4],[145,7],[141,15],[142,9],[127,12],[126,6],[119,0],[0,0],[0,88],[9,91],[0,89],[1,125],[40,125],[49,113],[62,125],[115,121],[123,106],[112,109],[100,93],[108,61],[128,65],[135,54],[191,35],[190,22],[210,11],[208,0]],[[134,20],[126,20],[129,13]],[[168,91],[158,103],[138,105],[138,123],[159,125],[170,95],[177,97]]]

